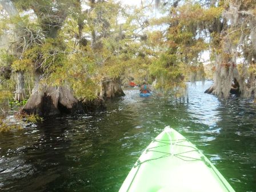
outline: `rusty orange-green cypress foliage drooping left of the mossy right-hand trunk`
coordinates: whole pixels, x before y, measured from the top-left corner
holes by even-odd
[[[157,87],[173,93],[184,93],[184,81],[205,79],[204,67],[198,59],[201,53],[210,49],[211,43],[219,46],[218,34],[212,33],[214,41],[207,41],[205,35],[213,30],[213,23],[221,19],[223,6],[206,7],[201,2],[185,1],[177,7],[170,7],[167,33],[152,33],[150,40],[160,50],[159,57],[149,67],[150,74],[157,79]],[[157,23],[155,21],[154,23]],[[165,21],[160,18],[161,22]],[[161,23],[160,22],[160,23]],[[209,31],[208,31],[209,30]],[[160,39],[160,41],[159,41]],[[217,48],[218,49],[218,48]]]

